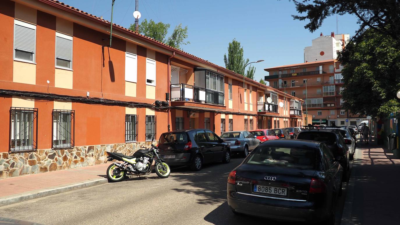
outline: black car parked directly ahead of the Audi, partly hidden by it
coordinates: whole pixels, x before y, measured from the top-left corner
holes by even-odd
[[[332,151],[334,157],[339,160],[344,171],[350,170],[350,152],[339,129],[304,129],[297,135],[297,139],[325,143]],[[343,173],[343,175],[343,180],[346,181],[347,173]]]

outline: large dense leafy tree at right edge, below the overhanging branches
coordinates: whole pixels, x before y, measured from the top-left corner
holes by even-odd
[[[373,116],[400,110],[400,50],[394,38],[369,28],[348,43],[338,60],[344,65],[343,108]]]

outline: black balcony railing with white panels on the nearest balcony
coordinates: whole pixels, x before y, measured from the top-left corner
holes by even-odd
[[[224,93],[189,84],[171,84],[171,102],[188,101],[224,105]]]

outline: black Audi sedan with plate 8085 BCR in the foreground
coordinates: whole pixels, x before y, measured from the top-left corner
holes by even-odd
[[[325,143],[265,141],[230,172],[228,205],[235,214],[334,224],[342,172]]]

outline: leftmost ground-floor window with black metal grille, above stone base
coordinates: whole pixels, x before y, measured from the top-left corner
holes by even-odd
[[[10,151],[37,149],[38,109],[10,109]]]

